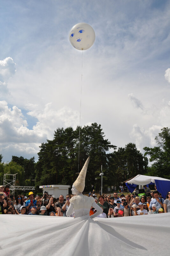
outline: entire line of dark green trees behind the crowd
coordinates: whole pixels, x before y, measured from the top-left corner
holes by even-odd
[[[86,174],[86,191],[91,190],[92,184],[100,189],[101,165],[104,190],[107,190],[107,186],[118,186],[137,174],[169,179],[170,129],[163,128],[161,131],[155,138],[158,146],[145,147],[143,155],[134,143],[119,148],[112,145],[97,123],[78,126],[75,130],[72,127],[57,128],[52,140],[41,143],[37,162],[34,157],[12,156],[9,163],[4,163],[1,154],[0,184],[3,184],[4,173],[18,173],[16,185],[35,185],[37,192],[40,185],[72,185],[89,155],[91,160]],[[150,167],[147,156],[151,162],[154,161]]]

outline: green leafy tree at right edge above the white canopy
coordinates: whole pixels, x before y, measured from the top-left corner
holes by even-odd
[[[145,156],[149,155],[152,166],[148,168],[148,175],[170,179],[170,129],[164,127],[161,133],[155,137],[157,147],[144,147]]]

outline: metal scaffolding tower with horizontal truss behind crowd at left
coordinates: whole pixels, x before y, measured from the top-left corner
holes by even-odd
[[[30,186],[15,186],[16,174],[4,174],[3,186],[10,185],[10,192],[14,195],[15,190],[35,190],[35,187]]]

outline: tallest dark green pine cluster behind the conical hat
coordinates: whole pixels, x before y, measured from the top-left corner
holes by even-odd
[[[76,173],[82,169],[90,155],[91,161],[86,175],[86,184],[90,189],[96,175],[100,174],[101,164],[104,168],[107,167],[106,152],[110,148],[116,148],[104,137],[101,125],[97,125],[97,123],[83,128],[77,127],[76,130],[73,130],[72,127],[57,128],[53,140],[47,140],[47,143],[42,143],[40,146],[39,161],[35,166],[36,186],[63,184],[64,182],[72,184],[77,178]]]

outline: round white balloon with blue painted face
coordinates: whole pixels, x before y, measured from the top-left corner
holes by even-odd
[[[87,23],[78,23],[71,28],[69,40],[77,50],[87,50],[94,43],[94,29]]]

